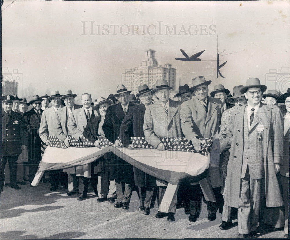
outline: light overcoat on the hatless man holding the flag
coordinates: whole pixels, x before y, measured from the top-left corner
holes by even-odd
[[[98,116],[98,113],[96,110],[93,109],[91,118],[93,118],[94,116]],[[83,134],[84,132],[87,122],[88,121],[87,121],[87,117],[85,113],[85,108],[81,107],[79,109],[75,109],[70,114],[70,119],[68,120],[68,131],[70,131],[70,134],[74,138],[79,139],[79,136],[81,136],[81,134]],[[84,177],[90,178],[91,177],[91,163],[82,165],[82,166],[77,166],[76,174],[77,176],[84,176]]]

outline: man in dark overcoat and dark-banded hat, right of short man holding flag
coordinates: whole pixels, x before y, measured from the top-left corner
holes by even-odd
[[[118,139],[121,123],[129,109],[134,106],[128,101],[130,93],[131,91],[128,91],[126,86],[118,85],[114,97],[119,103],[110,106],[106,111],[103,131],[115,147],[121,147]],[[111,154],[109,179],[115,179],[117,203],[114,207],[128,209],[134,185],[133,166],[115,154]]]

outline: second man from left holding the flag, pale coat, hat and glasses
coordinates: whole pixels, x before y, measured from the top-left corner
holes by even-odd
[[[57,111],[56,120],[56,132],[59,140],[63,141],[66,146],[70,146],[67,136],[71,133],[68,130],[68,120],[71,113],[75,109],[79,109],[82,105],[75,104],[75,97],[77,94],[73,94],[71,90],[65,91],[64,95],[60,98],[64,100],[66,107],[63,107]],[[68,173],[68,193],[66,195],[71,196],[77,192],[77,175],[75,167],[64,169],[63,172]]]

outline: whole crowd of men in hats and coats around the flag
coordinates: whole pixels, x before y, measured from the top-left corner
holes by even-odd
[[[50,144],[48,136],[57,136],[66,146],[70,146],[68,136],[88,139],[95,147],[100,147],[98,137],[104,136],[116,147],[128,149],[134,148],[130,137],[145,137],[160,151],[165,147],[159,137],[185,137],[197,151],[200,138],[212,137],[220,141],[221,155],[219,165],[210,164],[207,172],[216,199],[205,201],[208,220],[215,220],[219,211],[220,229],[228,230],[237,214],[238,238],[258,237],[257,227],[267,210],[271,219],[265,230],[282,227],[288,238],[290,89],[283,94],[266,92],[258,78],[249,78],[232,94],[222,84],[209,94],[209,84],[203,76],[195,77],[192,87],[179,86],[173,100],[169,98],[173,87],[166,80],[157,80],[154,89],[141,84],[136,95],[118,85],[115,94],[99,97],[94,104],[88,93],[81,95],[82,105],[75,104],[77,95],[71,90],[34,95],[29,102],[17,95],[3,96],[1,192],[4,182],[16,190],[27,181],[33,187],[41,156]],[[145,215],[154,206],[154,192],[158,191],[160,204],[168,185],[113,153],[46,174],[50,191],[60,183],[68,188],[68,196],[76,194],[82,201],[90,183],[98,203],[116,202],[114,207],[122,209],[129,208],[132,191],[138,189],[139,210]],[[48,180],[43,177],[43,181]],[[182,202],[189,221],[195,222],[202,197],[199,183],[182,184],[168,212],[157,212],[156,218],[175,221],[177,204]]]

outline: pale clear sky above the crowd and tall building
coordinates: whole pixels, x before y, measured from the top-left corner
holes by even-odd
[[[2,67],[9,71],[3,74],[19,76],[19,97],[31,84],[39,95],[71,89],[78,97],[107,98],[147,49],[156,51],[158,64],[177,69],[177,85],[180,78],[192,86],[203,75],[212,80],[209,91],[224,84],[232,92],[258,77],[286,92],[289,39],[289,1],[5,0],[2,6]],[[202,61],[175,60],[183,57],[180,48],[188,55],[205,50]],[[217,77],[217,52],[220,64],[227,61],[220,69],[225,79]]]

